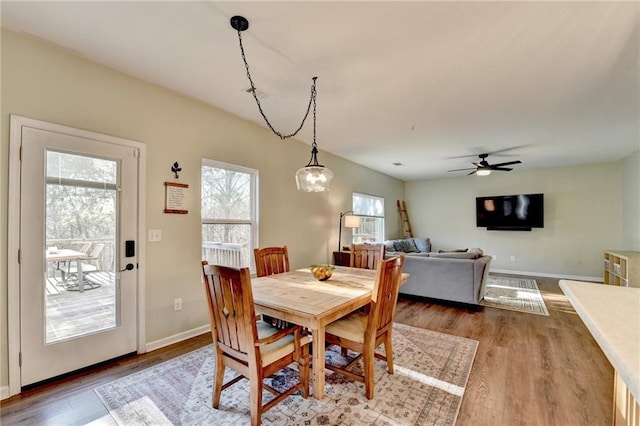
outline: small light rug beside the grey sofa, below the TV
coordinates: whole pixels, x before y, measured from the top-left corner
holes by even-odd
[[[488,277],[482,306],[549,315],[536,280],[512,277]]]

